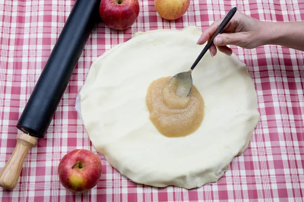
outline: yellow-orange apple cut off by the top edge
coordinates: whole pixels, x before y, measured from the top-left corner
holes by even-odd
[[[188,10],[190,0],[155,0],[155,9],[166,20],[176,20]]]

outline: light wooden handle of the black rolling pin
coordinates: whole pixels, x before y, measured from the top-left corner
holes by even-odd
[[[12,190],[17,185],[23,162],[29,149],[35,145],[36,139],[25,133],[17,135],[17,144],[9,161],[0,172],[0,186]]]

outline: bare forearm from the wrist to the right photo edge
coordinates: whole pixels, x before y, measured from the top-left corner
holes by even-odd
[[[268,36],[264,45],[274,44],[304,51],[304,21],[301,22],[264,22]]]

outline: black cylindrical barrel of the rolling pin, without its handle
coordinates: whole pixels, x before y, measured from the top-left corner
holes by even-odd
[[[21,114],[17,128],[43,138],[88,37],[99,18],[100,0],[78,0]]]

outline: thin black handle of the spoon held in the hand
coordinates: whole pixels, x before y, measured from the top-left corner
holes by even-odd
[[[203,58],[203,56],[205,55],[205,53],[208,51],[208,49],[212,45],[215,36],[217,36],[218,34],[220,34],[223,31],[223,29],[225,28],[225,26],[229,23],[229,21],[232,19],[232,17],[234,16],[234,14],[236,12],[237,12],[237,7],[234,7],[234,8],[232,8],[229,11],[229,13],[227,13],[226,17],[223,19],[223,21],[220,23],[220,25],[218,26],[217,30],[213,34],[211,40],[207,43],[207,45],[204,47],[204,49],[201,52],[201,54],[199,55],[199,57],[193,63],[193,65],[191,67],[191,70],[193,70],[195,68],[195,66],[197,66],[197,64],[200,62],[200,60]]]

